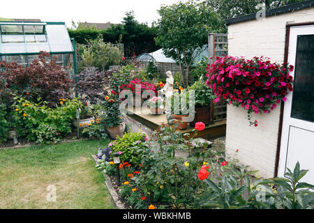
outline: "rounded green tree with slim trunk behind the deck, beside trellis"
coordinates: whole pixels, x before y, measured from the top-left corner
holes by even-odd
[[[162,6],[158,14],[161,18],[157,24],[156,43],[163,48],[165,56],[178,63],[181,82],[187,87],[190,66],[207,44],[208,33],[224,31],[223,20],[213,7],[195,1]]]

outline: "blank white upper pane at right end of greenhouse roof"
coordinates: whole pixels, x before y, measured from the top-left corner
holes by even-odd
[[[65,25],[47,25],[46,30],[51,52],[73,52]]]

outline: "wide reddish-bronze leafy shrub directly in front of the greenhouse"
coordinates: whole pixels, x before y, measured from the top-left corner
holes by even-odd
[[[45,56],[50,56],[47,52],[41,52],[38,60],[30,63],[24,68],[16,62],[0,62],[0,82],[3,82],[3,89],[7,92],[5,100],[8,107],[12,105],[13,95],[19,95],[27,100],[41,102],[46,101],[50,107],[55,107],[59,98],[69,99],[72,97],[70,89],[74,81],[70,79],[67,72],[53,58],[50,63],[46,63]]]

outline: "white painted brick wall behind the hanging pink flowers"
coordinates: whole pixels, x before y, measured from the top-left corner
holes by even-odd
[[[314,8],[297,10],[265,18],[230,24],[228,41],[230,56],[268,56],[272,62],[283,63],[285,54],[285,26],[289,23],[314,22]],[[226,152],[237,157],[251,169],[259,170],[264,178],[274,177],[280,106],[269,114],[254,114],[258,127],[249,126],[242,107],[227,106]]]

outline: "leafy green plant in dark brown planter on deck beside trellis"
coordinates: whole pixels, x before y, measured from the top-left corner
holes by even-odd
[[[195,118],[190,122],[191,126],[195,123],[202,122],[208,125],[213,122],[213,100],[216,98],[213,91],[200,78],[193,86],[189,87],[190,91],[195,92]]]

